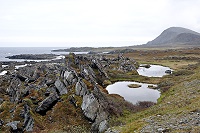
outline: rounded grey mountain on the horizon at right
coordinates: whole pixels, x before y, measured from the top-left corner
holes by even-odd
[[[181,27],[170,27],[146,45],[200,45],[200,33]]]

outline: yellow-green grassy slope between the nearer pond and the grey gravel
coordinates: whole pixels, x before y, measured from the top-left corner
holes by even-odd
[[[185,113],[198,110],[200,107],[200,65],[197,64],[197,66],[198,68],[193,70],[194,74],[172,76],[171,79],[168,79],[176,80],[176,82],[161,95],[157,105],[141,112],[130,113],[125,117],[115,118],[115,121],[125,123],[125,125],[118,126],[116,129],[122,133],[140,132],[142,127],[147,124],[144,119],[150,116],[166,114],[169,116],[182,116]],[[198,131],[199,129],[195,130]]]

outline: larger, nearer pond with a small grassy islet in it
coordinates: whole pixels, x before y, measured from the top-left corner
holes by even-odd
[[[129,88],[130,84],[139,84],[139,88]],[[157,102],[160,97],[160,92],[158,90],[148,88],[148,85],[138,82],[116,82],[112,85],[106,87],[109,94],[119,94],[124,97],[125,100],[136,104],[138,101],[151,101]]]

